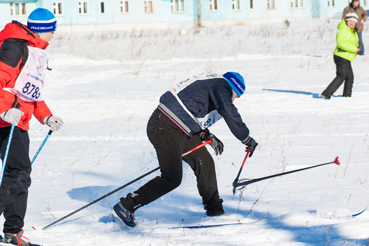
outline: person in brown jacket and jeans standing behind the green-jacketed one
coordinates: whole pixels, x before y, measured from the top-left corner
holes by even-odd
[[[364,55],[364,44],[363,44],[361,32],[363,31],[363,23],[364,21],[366,21],[366,18],[368,17],[368,12],[366,12],[360,6],[360,0],[352,0],[349,6],[347,6],[344,9],[344,12],[342,13],[342,19],[346,17],[346,14],[353,13],[353,12],[358,15],[358,22],[356,22],[356,28],[358,28],[356,32],[358,33],[359,48],[360,48],[358,55]]]

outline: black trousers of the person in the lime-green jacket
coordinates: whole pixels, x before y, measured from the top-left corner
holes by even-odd
[[[352,84],[354,84],[354,73],[352,72],[351,62],[336,55],[333,55],[333,60],[336,64],[337,76],[329,84],[327,89],[322,92],[322,94],[324,94],[328,98],[331,98],[338,87],[340,87],[341,84],[345,82],[342,97],[351,97]]]

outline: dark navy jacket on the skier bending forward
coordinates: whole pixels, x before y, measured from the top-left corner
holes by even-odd
[[[249,129],[232,103],[232,89],[226,79],[216,77],[196,80],[180,90],[177,96],[194,117],[203,118],[216,110],[224,118],[237,139],[242,143],[249,140]],[[212,121],[209,119],[200,127],[199,123],[188,114],[171,91],[167,91],[161,96],[158,108],[189,137],[199,133],[201,127],[204,129],[212,125]],[[212,114],[210,118],[213,115],[215,117],[218,114]]]

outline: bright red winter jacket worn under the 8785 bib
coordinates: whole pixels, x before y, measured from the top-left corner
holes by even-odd
[[[23,48],[13,38],[23,39],[29,43],[29,46],[39,49],[46,49],[49,44],[42,41],[25,25],[17,21],[8,23],[0,31],[0,114],[20,103],[21,107],[19,109],[24,112],[24,115],[22,115],[17,127],[28,130],[30,129],[28,121],[31,119],[32,114],[41,124],[43,124],[42,120],[45,117],[52,114],[44,101],[25,102],[15,94],[3,90],[6,87],[13,88],[15,80],[21,72],[19,67],[23,58]],[[10,123],[0,118],[0,127],[8,127],[10,125]]]

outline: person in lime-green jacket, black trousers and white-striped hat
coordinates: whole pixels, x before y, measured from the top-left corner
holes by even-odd
[[[344,92],[342,97],[351,97],[352,84],[354,84],[354,73],[352,72],[351,62],[355,60],[356,54],[360,51],[359,37],[357,28],[358,15],[356,13],[347,13],[345,19],[337,26],[337,46],[333,52],[333,60],[336,64],[336,77],[328,85],[321,96],[324,99],[330,99],[333,93],[343,82]]]

